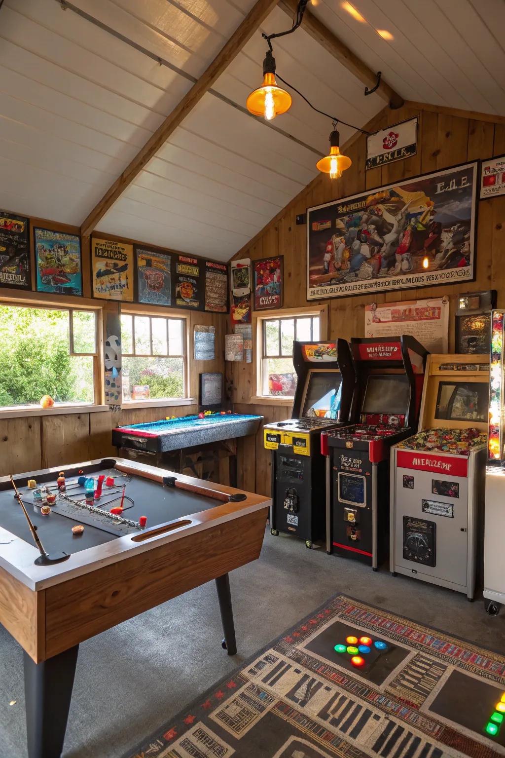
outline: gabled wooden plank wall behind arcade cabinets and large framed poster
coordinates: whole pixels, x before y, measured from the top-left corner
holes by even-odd
[[[297,226],[295,216],[304,213],[307,207],[329,200],[339,199],[363,192],[365,189],[382,186],[396,180],[437,171],[454,164],[475,158],[489,158],[505,153],[505,127],[488,121],[454,117],[441,112],[419,111],[400,108],[386,110],[376,124],[383,128],[404,119],[419,115],[419,146],[417,155],[404,161],[365,171],[366,137],[356,140],[348,155],[353,164],[341,179],[329,180],[317,177],[295,201],[286,208],[281,218],[266,227],[252,243],[240,250],[235,257],[263,258],[269,255],[284,255],[284,306],[301,308],[307,305],[306,235],[307,227]],[[505,197],[479,203],[477,275],[474,282],[447,285],[445,287],[422,287],[418,290],[395,291],[385,294],[369,294],[327,299],[329,303],[329,337],[362,337],[364,331],[364,306],[370,302],[394,302],[450,296],[449,350],[454,349],[454,309],[457,294],[472,290],[498,291],[497,305],[505,307]],[[311,301],[313,305],[315,301]],[[279,312],[280,313],[280,312]],[[253,351],[253,355],[254,355]],[[288,418],[290,409],[282,406],[253,406],[249,400],[253,385],[251,364],[228,364],[227,378],[232,384],[232,401],[239,412],[258,412],[265,421]],[[245,443],[242,462],[242,486],[257,493],[270,494],[270,452],[263,449],[263,438],[257,434],[255,444]]]

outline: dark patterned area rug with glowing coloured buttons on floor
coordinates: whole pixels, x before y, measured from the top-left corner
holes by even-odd
[[[503,756],[502,702],[505,657],[338,595],[125,758]]]

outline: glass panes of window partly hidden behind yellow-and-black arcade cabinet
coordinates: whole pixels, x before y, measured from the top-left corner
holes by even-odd
[[[320,317],[264,318],[262,324],[261,394],[292,397],[296,388],[293,342],[319,340]]]

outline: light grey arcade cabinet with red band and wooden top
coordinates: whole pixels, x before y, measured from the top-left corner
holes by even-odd
[[[391,451],[390,570],[473,599],[488,356],[429,356],[419,433]]]

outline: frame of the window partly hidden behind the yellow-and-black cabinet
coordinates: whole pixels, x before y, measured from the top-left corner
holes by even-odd
[[[282,321],[287,318],[310,318],[310,317],[319,317],[320,320],[320,342],[324,342],[328,339],[328,309],[329,305],[328,303],[323,303],[322,305],[313,305],[313,307],[310,307],[310,305],[307,305],[305,308],[283,308],[282,311],[272,310],[272,311],[262,311],[259,314],[253,313],[253,340],[256,341],[255,346],[255,356],[256,361],[254,362],[254,377],[253,377],[253,387],[256,390],[256,393],[254,396],[251,397],[250,402],[257,404],[257,405],[275,405],[275,406],[292,406],[294,396],[273,396],[273,395],[264,395],[263,394],[263,358],[290,358],[291,356],[266,356],[263,355],[263,344],[266,346],[266,337],[265,337],[265,327],[264,323],[265,321]],[[313,324],[311,324],[311,329],[313,327]],[[312,332],[311,332],[312,333]],[[295,337],[296,337],[296,326],[295,326]],[[279,339],[280,339],[280,328],[279,328]],[[253,345],[254,348],[254,345]]]

